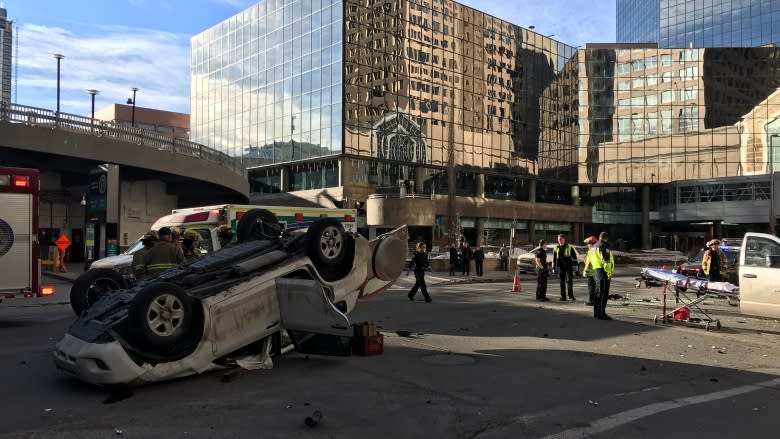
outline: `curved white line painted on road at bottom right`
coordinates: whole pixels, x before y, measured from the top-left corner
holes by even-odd
[[[544,439],[585,438],[671,409],[717,401],[719,399],[725,399],[732,396],[755,392],[756,390],[771,389],[778,386],[780,386],[780,378],[775,378],[773,380],[735,387],[733,389],[722,390],[720,392],[689,396],[687,398],[673,399],[666,402],[658,402],[607,416],[606,418],[594,421],[588,427],[572,428],[560,433],[551,434],[549,436],[545,436]]]

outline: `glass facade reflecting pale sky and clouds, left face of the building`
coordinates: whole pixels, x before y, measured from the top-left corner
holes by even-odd
[[[247,167],[340,154],[343,8],[266,0],[193,37],[192,140]]]

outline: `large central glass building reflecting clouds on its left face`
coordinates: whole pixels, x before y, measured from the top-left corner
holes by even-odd
[[[191,137],[241,157],[255,194],[325,193],[429,241],[575,232],[576,156],[539,149],[574,52],[450,0],[265,0],[193,37]],[[425,213],[372,201],[410,192]]]

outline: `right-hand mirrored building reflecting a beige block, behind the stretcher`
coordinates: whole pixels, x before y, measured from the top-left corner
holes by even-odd
[[[563,111],[542,107],[540,155],[571,147],[593,223],[620,236],[687,250],[705,234],[765,231],[780,169],[778,69],[776,47],[587,44],[544,94],[576,90]]]

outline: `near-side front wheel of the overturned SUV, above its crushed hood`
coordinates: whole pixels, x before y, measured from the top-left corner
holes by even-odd
[[[127,321],[140,347],[171,350],[192,332],[192,299],[178,285],[152,282],[133,298]]]

